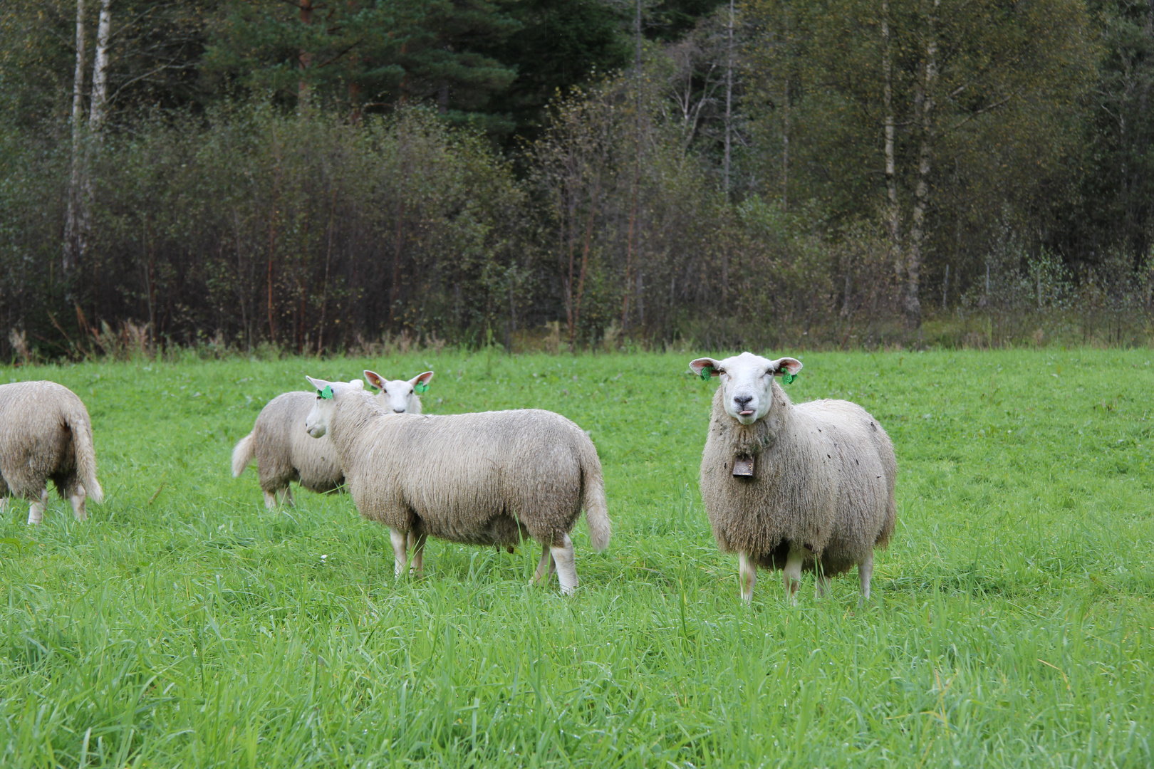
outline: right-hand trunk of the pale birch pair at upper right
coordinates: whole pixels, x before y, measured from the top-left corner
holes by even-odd
[[[926,29],[926,78],[915,97],[921,119],[921,146],[917,152],[917,184],[914,188],[914,210],[909,223],[909,254],[906,258],[906,291],[902,311],[906,325],[916,329],[922,324],[919,300],[919,278],[926,244],[926,209],[929,206],[930,161],[934,150],[934,89],[937,85],[937,13],[941,0],[932,0]]]

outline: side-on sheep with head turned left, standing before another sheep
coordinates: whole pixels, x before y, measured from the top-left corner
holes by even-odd
[[[569,537],[582,507],[598,551],[612,525],[597,448],[553,412],[518,409],[428,416],[385,412],[344,383],[308,380],[317,397],[306,420],[329,436],[349,493],[366,519],[389,527],[394,573],[424,571],[428,536],[465,544],[541,543],[534,583],[554,572],[561,591],[578,585]]]

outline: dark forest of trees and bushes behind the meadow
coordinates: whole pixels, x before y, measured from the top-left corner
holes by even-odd
[[[1154,0],[38,0],[0,359],[1154,338]]]

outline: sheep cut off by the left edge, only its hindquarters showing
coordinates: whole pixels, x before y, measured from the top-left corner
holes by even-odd
[[[0,510],[8,496],[23,497],[30,503],[28,522],[39,523],[48,478],[78,521],[88,518],[85,498],[104,502],[88,409],[76,393],[54,382],[0,385]]]

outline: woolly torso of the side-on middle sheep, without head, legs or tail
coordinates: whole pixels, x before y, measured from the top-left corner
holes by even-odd
[[[350,493],[369,518],[389,523],[407,511],[429,535],[500,544],[516,541],[512,521],[541,538],[570,530],[580,514],[582,455],[595,450],[560,414],[389,414],[379,424],[357,448],[375,461],[347,468]]]

